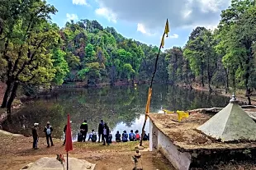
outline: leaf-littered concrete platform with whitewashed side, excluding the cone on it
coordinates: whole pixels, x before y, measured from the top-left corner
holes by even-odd
[[[198,131],[197,127],[209,120],[210,115],[192,113],[183,122],[178,122],[177,114],[148,115],[149,149],[159,150],[179,170],[255,158],[256,141],[220,142]]]

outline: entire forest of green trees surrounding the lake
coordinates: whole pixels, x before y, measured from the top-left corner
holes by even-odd
[[[254,2],[232,0],[215,30],[198,26],[184,47],[164,49],[154,80],[170,85],[197,82],[209,90],[243,89],[250,104],[256,90]],[[127,39],[88,19],[59,28],[50,18],[57,11],[41,0],[1,1],[0,78],[7,86],[1,108],[7,113],[18,89],[30,95],[38,87],[67,83],[115,85],[151,79],[159,47]]]

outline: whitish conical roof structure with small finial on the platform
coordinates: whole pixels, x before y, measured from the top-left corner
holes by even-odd
[[[221,141],[256,140],[256,123],[239,106],[234,94],[225,108],[197,130]]]

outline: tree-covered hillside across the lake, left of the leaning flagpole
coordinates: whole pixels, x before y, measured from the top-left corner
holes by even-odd
[[[65,81],[88,81],[95,85],[118,80],[149,80],[157,47],[126,39],[112,27],[97,21],[67,22],[60,30],[62,51],[69,65]]]

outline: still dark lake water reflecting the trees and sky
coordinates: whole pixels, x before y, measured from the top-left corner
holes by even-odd
[[[100,120],[107,122],[112,135],[116,131],[139,130],[145,120],[145,104],[149,85],[106,86],[88,89],[53,90],[48,96],[42,96],[21,108],[2,124],[3,130],[31,136],[31,126],[39,123],[39,135],[46,122],[54,128],[53,136],[61,138],[67,113],[71,117],[73,140],[84,119],[88,120],[88,129],[97,131]],[[187,90],[167,85],[153,85],[150,113],[158,113],[162,108],[171,111],[195,108],[225,107],[229,99],[205,91]],[[149,132],[149,121],[145,126]]]

